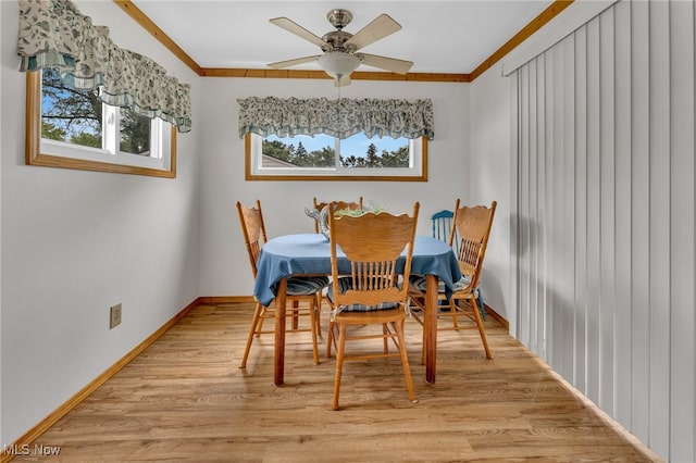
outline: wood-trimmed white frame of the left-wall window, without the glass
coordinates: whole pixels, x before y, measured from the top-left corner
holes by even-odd
[[[150,155],[119,150],[120,111],[102,104],[102,148],[85,147],[41,137],[41,72],[26,73],[26,163],[50,167],[121,174],[176,177],[176,129],[153,118],[150,125]],[[167,130],[167,126],[170,129]]]

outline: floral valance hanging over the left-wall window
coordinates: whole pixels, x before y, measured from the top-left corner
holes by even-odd
[[[67,86],[101,87],[101,100],[160,117],[178,132],[191,128],[190,86],[154,61],[114,45],[70,0],[20,0],[20,71],[55,67]]]

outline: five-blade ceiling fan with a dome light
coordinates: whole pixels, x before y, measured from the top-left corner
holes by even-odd
[[[360,64],[366,64],[368,66],[378,67],[397,74],[408,73],[413,65],[411,61],[397,60],[396,58],[380,57],[376,54],[358,53],[359,50],[370,43],[401,29],[401,25],[394,21],[388,14],[381,14],[355,35],[344,30],[344,27],[352,20],[352,14],[348,10],[331,10],[326,14],[326,18],[336,30],[326,33],[323,37],[312,34],[287,17],[274,17],[270,20],[270,22],[276,26],[318,45],[324,53],[296,58],[295,60],[278,61],[276,63],[270,63],[269,66],[282,70],[297,64],[316,61],[324,72],[334,78],[334,85],[336,87],[343,87],[350,85],[350,74]]]

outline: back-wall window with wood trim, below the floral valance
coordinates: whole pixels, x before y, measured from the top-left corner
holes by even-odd
[[[245,135],[248,180],[427,180],[427,138]]]

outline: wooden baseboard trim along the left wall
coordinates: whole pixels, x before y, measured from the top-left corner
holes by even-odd
[[[184,308],[179,313],[174,315],[169,322],[162,325],[157,331],[152,335],[148,336],[142,342],[136,346],[133,350],[130,350],[127,354],[125,354],[121,360],[111,365],[107,371],[104,371],[101,375],[97,376],[91,383],[85,386],[75,396],[71,397],[65,403],[55,409],[51,414],[41,420],[36,426],[26,431],[22,437],[20,437],[13,445],[5,446],[2,451],[2,455],[0,456],[0,463],[5,463],[11,461],[15,455],[8,453],[12,451],[12,449],[22,449],[25,446],[30,446],[36,439],[38,439],[44,433],[48,430],[51,426],[53,426],[60,418],[65,416],[67,412],[73,410],[77,404],[79,404],[83,400],[85,400],[90,393],[92,393],[99,386],[104,384],[109,378],[119,373],[124,366],[126,366],[133,359],[138,356],[145,349],[147,349],[152,342],[154,342],[160,336],[166,333],[172,326],[176,325],[182,318],[184,318],[191,310],[196,309],[201,303],[201,299],[197,298],[186,308]]]

